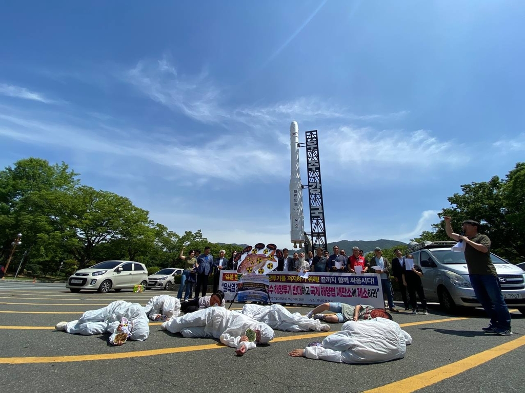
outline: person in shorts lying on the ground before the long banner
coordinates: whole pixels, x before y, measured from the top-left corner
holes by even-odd
[[[335,314],[321,314],[323,311],[332,311]],[[381,318],[392,319],[392,315],[381,309],[375,309],[371,305],[346,303],[322,303],[306,314],[308,318],[319,319],[329,323],[343,323],[346,321],[357,321]]]

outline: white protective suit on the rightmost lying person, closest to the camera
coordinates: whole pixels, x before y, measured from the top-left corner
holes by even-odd
[[[381,363],[405,356],[412,337],[385,318],[348,321],[321,346],[304,348],[304,357],[337,363]]]

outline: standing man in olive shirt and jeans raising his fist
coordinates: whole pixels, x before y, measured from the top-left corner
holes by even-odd
[[[465,260],[467,261],[470,283],[476,298],[490,317],[490,325],[483,328],[487,333],[502,336],[512,334],[510,330],[510,313],[501,293],[498,274],[490,259],[490,239],[478,233],[479,223],[466,220],[461,224],[465,235],[454,233],[450,217],[445,216],[445,231],[450,238],[465,242]]]

